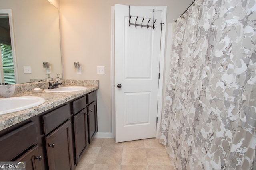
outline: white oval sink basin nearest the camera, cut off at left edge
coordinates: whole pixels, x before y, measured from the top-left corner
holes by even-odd
[[[43,104],[44,102],[44,98],[36,96],[0,98],[0,115],[29,109]]]

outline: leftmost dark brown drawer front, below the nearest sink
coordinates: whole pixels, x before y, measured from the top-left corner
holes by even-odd
[[[0,137],[0,160],[10,161],[28,147],[37,143],[34,121]]]

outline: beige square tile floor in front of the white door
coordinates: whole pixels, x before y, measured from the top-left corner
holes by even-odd
[[[94,138],[75,170],[174,170],[164,145],[157,139],[115,143]]]

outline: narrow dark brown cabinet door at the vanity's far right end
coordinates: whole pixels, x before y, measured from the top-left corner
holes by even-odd
[[[93,102],[92,104],[88,105],[88,128],[90,143],[92,141],[92,138],[98,131],[96,102]]]

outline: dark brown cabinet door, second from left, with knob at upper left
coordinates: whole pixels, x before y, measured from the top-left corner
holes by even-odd
[[[72,170],[74,167],[70,120],[45,138],[50,170]]]

